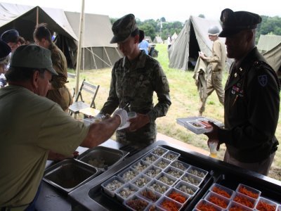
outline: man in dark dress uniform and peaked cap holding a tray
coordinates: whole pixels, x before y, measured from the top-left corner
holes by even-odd
[[[224,161],[267,175],[279,144],[275,137],[280,84],[273,68],[256,49],[261,17],[247,11],[221,12],[227,56],[235,61],[225,87],[225,129],[213,125],[208,143],[226,143]]]

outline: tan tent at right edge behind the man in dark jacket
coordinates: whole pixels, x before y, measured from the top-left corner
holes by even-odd
[[[259,52],[266,58],[270,66],[280,75],[281,72],[281,36],[262,35],[257,44]]]

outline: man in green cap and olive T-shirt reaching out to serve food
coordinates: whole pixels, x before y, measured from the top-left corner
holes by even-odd
[[[13,53],[0,89],[0,210],[34,210],[49,151],[68,156],[98,146],[127,121],[122,109],[89,126],[74,120],[45,97],[53,75],[48,49],[23,45]]]

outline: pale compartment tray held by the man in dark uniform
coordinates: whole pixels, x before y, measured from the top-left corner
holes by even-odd
[[[224,126],[223,122],[214,120],[211,117],[202,116],[178,118],[176,119],[176,122],[195,134],[204,134],[206,132],[210,132],[212,127],[209,122],[214,122],[214,124],[216,124],[218,127]]]

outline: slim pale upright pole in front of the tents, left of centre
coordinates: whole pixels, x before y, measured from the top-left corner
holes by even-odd
[[[80,24],[79,24],[78,49],[77,49],[75,98],[77,97],[79,91],[79,74],[80,74],[80,65],[81,65],[81,39],[84,30],[84,6],[85,6],[85,0],[82,0]],[[77,115],[74,115],[74,118],[76,119]]]

